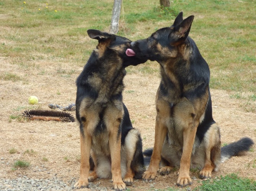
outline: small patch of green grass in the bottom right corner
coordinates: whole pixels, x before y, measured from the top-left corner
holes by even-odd
[[[203,185],[194,189],[196,191],[253,191],[256,190],[256,181],[240,178],[236,174],[221,176],[213,180],[203,181]]]

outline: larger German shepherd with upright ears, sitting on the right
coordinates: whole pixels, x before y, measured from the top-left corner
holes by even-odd
[[[152,156],[143,178],[154,180],[161,161],[160,174],[180,166],[177,185],[181,187],[192,183],[190,167],[201,169],[201,178],[210,178],[222,161],[253,145],[250,138],[242,138],[221,148],[220,130],[212,118],[209,67],[188,37],[193,18],[183,20],[181,12],[171,27],[132,42],[126,50],[128,56],[160,64],[155,142],[153,151],[144,152]]]

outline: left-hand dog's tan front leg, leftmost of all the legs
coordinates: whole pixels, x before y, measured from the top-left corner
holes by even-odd
[[[86,133],[85,133],[86,134]],[[81,166],[80,166],[80,178],[74,185],[75,188],[88,187],[88,175],[90,170],[89,158],[91,150],[92,137],[88,134],[84,135],[80,131],[80,150],[81,150]]]

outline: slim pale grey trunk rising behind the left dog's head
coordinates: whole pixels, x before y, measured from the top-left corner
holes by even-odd
[[[110,33],[112,34],[116,34],[118,32],[121,5],[122,0],[114,0],[113,13],[110,25]]]

